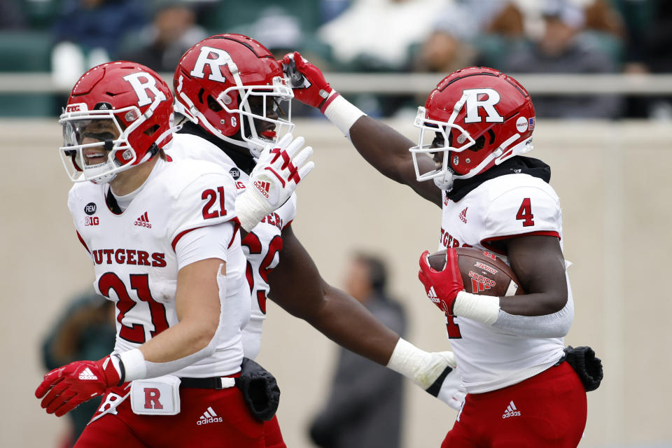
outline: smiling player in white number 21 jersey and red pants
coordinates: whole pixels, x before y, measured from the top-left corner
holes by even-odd
[[[105,394],[77,447],[263,447],[234,387],[251,312],[235,181],[167,160],[173,95],[140,64],[87,71],[59,123],[69,209],[117,335],[109,356],[46,374],[42,407],[62,416]]]

